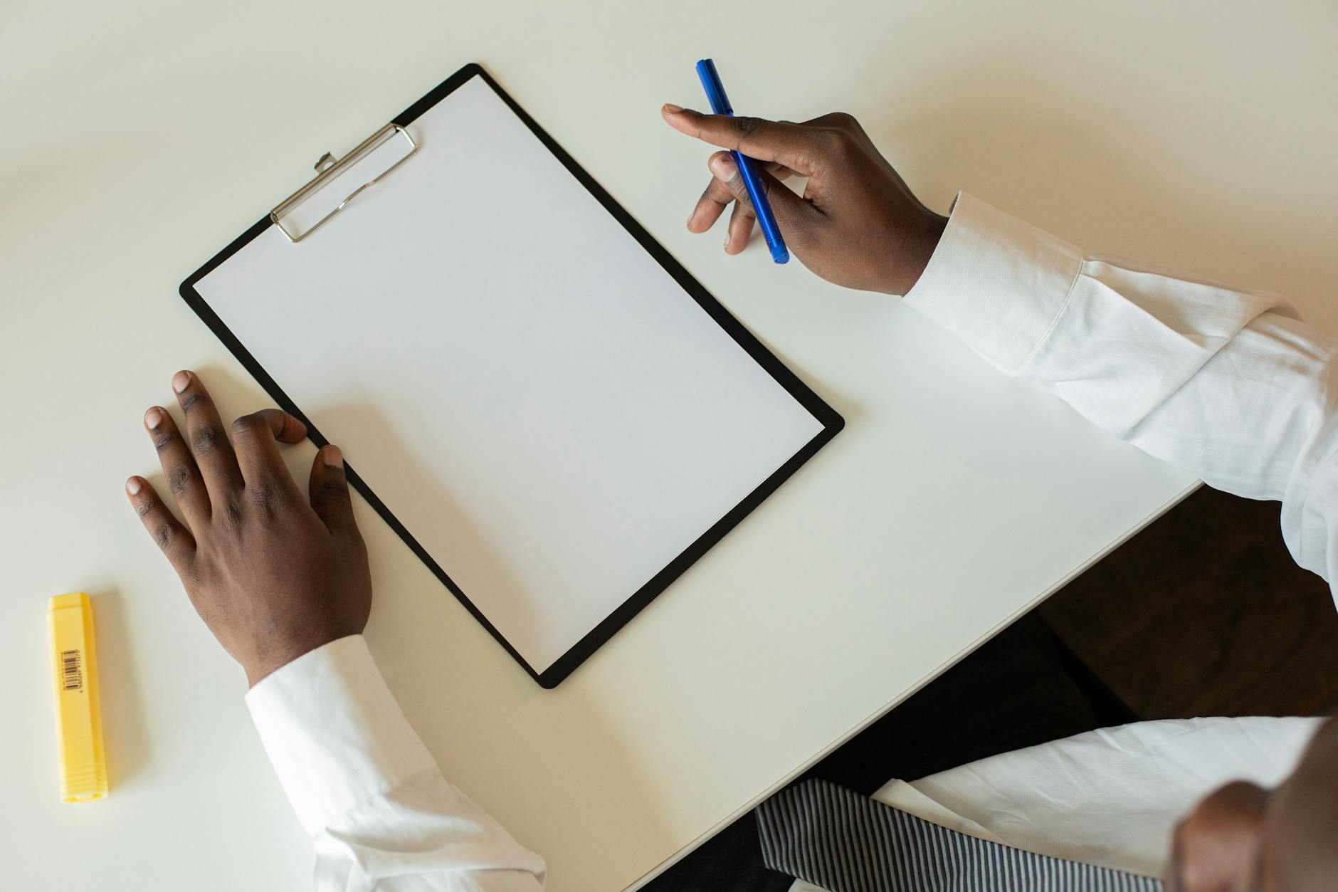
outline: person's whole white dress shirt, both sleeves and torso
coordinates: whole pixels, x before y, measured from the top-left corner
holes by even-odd
[[[906,303],[1115,435],[1219,489],[1280,498],[1287,548],[1333,579],[1335,342],[1278,296],[1085,256],[961,194]],[[246,700],[314,841],[317,889],[542,888],[543,860],[442,777],[361,636],[289,663]],[[1235,777],[1276,784],[1314,727],[1132,725],[894,779],[876,797],[975,836],[1156,875],[1196,798]]]

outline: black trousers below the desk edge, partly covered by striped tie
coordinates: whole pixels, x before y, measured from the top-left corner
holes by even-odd
[[[1034,615],[974,654],[809,769],[871,794],[998,753],[1137,721]],[[800,778],[803,779],[803,778]],[[768,871],[752,813],[645,888],[650,892],[784,892]]]

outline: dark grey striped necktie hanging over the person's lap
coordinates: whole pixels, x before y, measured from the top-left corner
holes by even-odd
[[[763,860],[828,892],[1160,892],[1145,876],[930,824],[828,781],[757,806]]]

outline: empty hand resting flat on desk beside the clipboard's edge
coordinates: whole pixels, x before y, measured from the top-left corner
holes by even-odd
[[[186,525],[143,477],[126,481],[126,493],[209,631],[250,684],[321,644],[360,634],[372,609],[372,577],[339,447],[316,454],[308,501],[278,451],[278,443],[306,437],[300,421],[277,408],[244,415],[229,442],[197,375],[177,372],[173,390],[186,435],[158,406],[145,413],[145,429]]]

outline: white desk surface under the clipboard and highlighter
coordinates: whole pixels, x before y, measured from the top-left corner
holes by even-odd
[[[682,226],[713,55],[740,110],[855,113],[953,190],[1098,250],[1290,295],[1338,281],[1338,8],[1272,4],[12,0],[0,16],[0,838],[5,884],[301,889],[312,854],[241,671],[122,493],[199,370],[260,387],[177,284],[460,64],[482,62],[848,419],[553,692],[359,505],[368,638],[446,774],[551,868],[618,889],[809,763],[1173,502],[1191,478],[898,301]],[[468,171],[460,171],[468,175]],[[498,233],[499,240],[506,233]],[[388,435],[412,435],[405,427]],[[294,466],[312,447],[290,450]],[[305,470],[304,470],[305,474]],[[45,599],[95,596],[112,796],[56,798]]]

